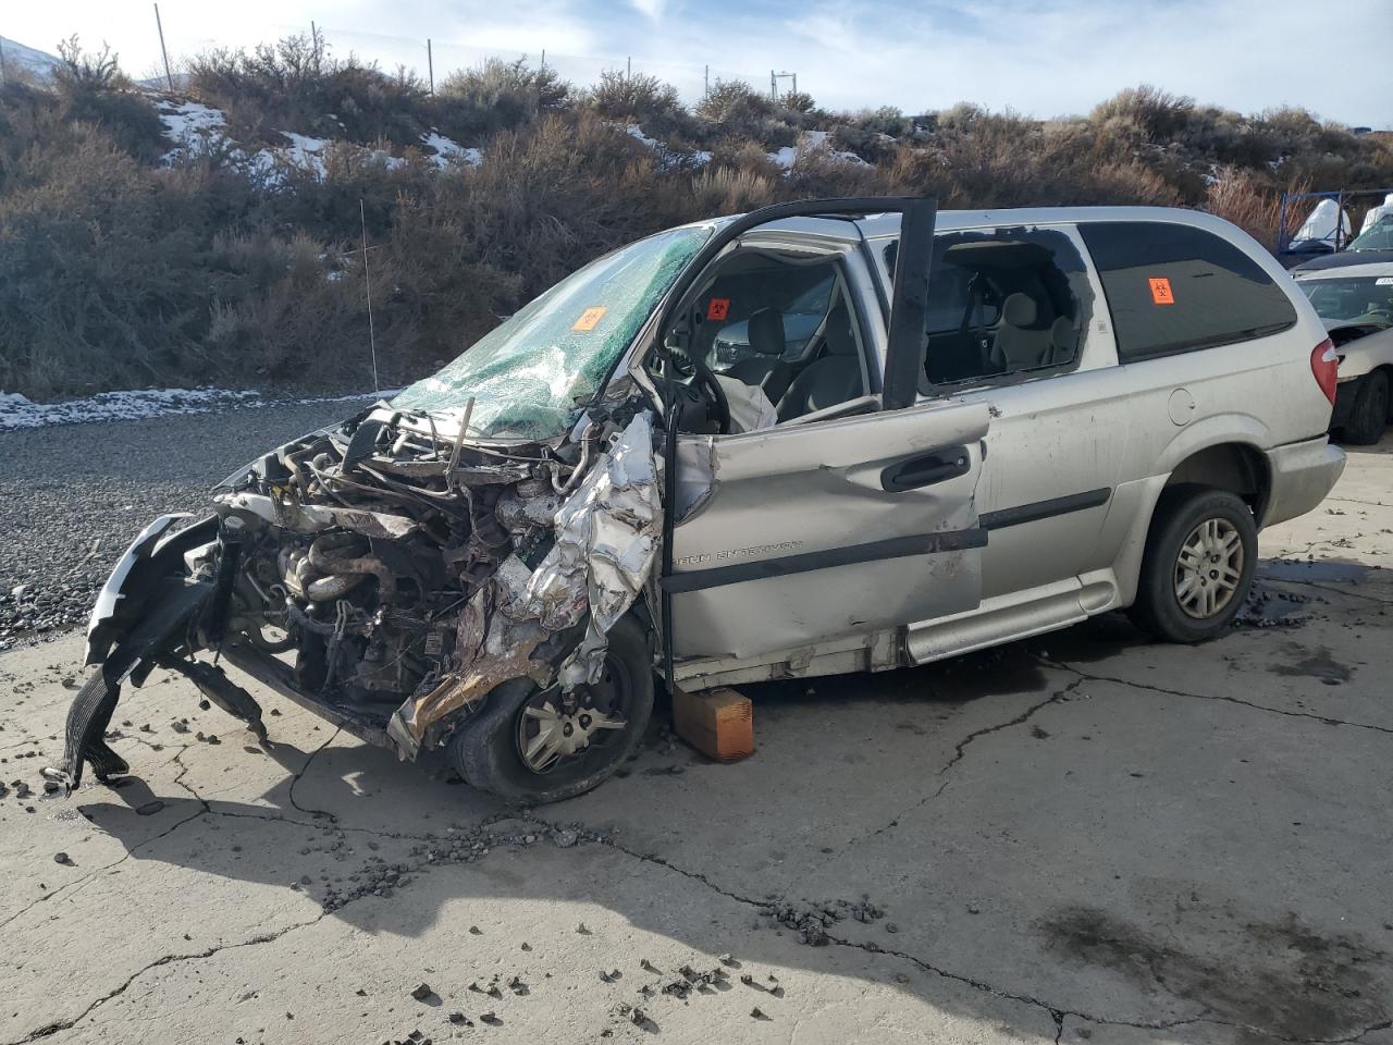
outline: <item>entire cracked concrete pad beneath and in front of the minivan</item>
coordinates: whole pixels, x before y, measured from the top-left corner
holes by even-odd
[[[157,676],[116,716],[137,779],[45,798],[81,640],[6,653],[0,777],[35,796],[0,798],[0,1042],[1393,1045],[1387,449],[1263,534],[1250,619],[1283,626],[1153,647],[1110,617],[748,687],[754,758],[656,736],[511,819],[255,690],[259,751]],[[677,982],[723,953],[723,985]]]

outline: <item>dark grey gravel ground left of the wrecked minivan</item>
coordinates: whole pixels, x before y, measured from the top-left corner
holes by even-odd
[[[0,433],[0,649],[84,626],[150,518],[194,511],[258,453],[354,414],[277,404]]]

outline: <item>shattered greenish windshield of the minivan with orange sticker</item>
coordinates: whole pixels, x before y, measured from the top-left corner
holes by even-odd
[[[469,433],[550,439],[570,428],[710,227],[671,229],[591,262],[514,312],[393,407],[458,412]]]

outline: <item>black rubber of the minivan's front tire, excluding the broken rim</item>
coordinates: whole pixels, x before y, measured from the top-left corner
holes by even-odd
[[[584,794],[618,769],[638,748],[653,713],[653,660],[648,631],[631,616],[610,628],[607,638],[609,681],[596,687],[595,692],[605,695],[595,699],[621,699],[621,729],[596,730],[585,748],[559,755],[538,771],[524,758],[524,744],[529,743],[525,732],[540,729],[532,725],[535,718],[527,709],[554,706],[550,701],[556,692],[542,692],[531,680],[514,679],[489,694],[483,709],[450,741],[447,754],[460,775],[471,786],[506,801],[543,805]],[[582,706],[573,716],[575,722],[585,720],[581,718],[585,711]]]

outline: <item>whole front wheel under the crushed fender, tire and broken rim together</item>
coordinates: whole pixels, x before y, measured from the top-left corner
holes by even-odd
[[[653,713],[648,633],[624,617],[609,635],[600,681],[575,691],[540,690],[514,679],[449,744],[449,758],[474,787],[510,803],[574,798],[634,754]]]

